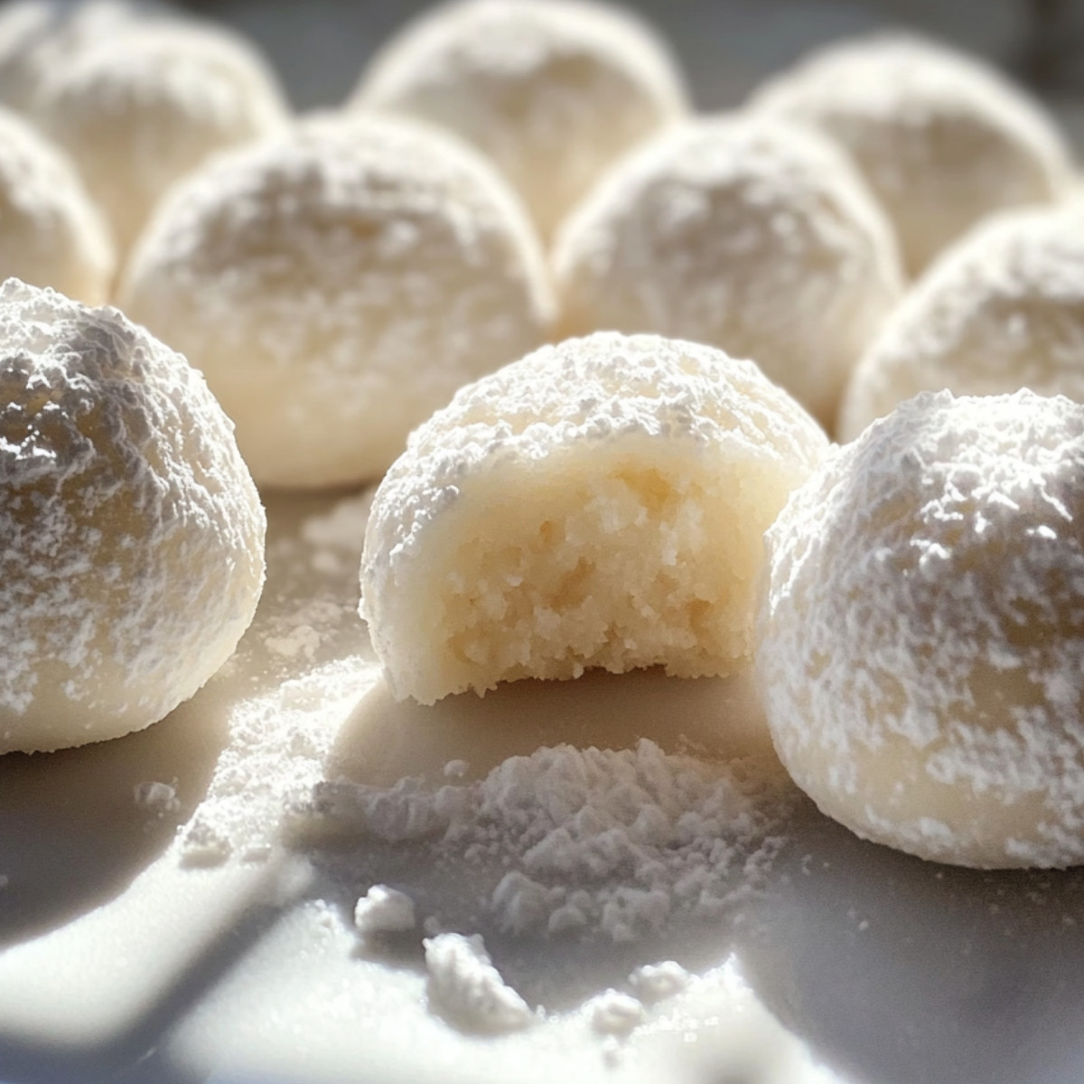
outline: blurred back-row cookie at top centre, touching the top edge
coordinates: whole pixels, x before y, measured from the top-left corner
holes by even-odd
[[[664,43],[579,0],[464,0],[410,23],[353,104],[446,126],[490,155],[549,237],[625,150],[687,112]]]

